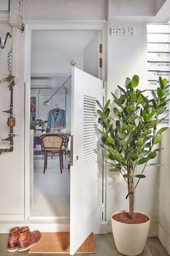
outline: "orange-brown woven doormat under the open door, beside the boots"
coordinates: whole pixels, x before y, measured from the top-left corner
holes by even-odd
[[[70,252],[69,232],[44,232],[40,242],[28,253],[68,253]],[[94,234],[91,233],[76,253],[95,253]]]

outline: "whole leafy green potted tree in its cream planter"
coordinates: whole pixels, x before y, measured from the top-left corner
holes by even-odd
[[[134,75],[125,81],[124,88],[117,86],[120,95],[112,93],[104,107],[98,103],[98,122],[102,135],[104,157],[109,164],[109,171],[119,172],[128,187],[129,210],[112,214],[112,232],[117,250],[122,255],[139,255],[146,244],[150,217],[145,213],[134,211],[135,190],[141,179],[146,178],[144,171],[148,166],[159,166],[148,161],[156,158],[161,148],[156,148],[162,140],[162,133],[167,127],[158,127],[166,117],[161,114],[166,110],[169,101],[169,86],[166,79],[159,77],[160,86],[153,98],[144,95],[138,89],[139,77]],[[137,168],[142,166],[140,171]],[[139,168],[138,168],[139,169]]]

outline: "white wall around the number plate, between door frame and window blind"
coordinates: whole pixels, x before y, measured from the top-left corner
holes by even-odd
[[[133,27],[133,35],[110,35],[111,27]],[[138,74],[141,88],[147,88],[147,38],[144,22],[109,22],[107,56],[107,95],[126,77]]]

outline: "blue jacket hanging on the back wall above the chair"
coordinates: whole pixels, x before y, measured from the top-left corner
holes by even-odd
[[[66,111],[59,108],[59,111],[56,111],[56,108],[50,110],[48,117],[48,127],[56,128],[60,125],[66,125]]]

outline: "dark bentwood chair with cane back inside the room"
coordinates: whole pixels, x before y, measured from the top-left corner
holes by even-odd
[[[48,156],[59,156],[61,174],[63,172],[63,154],[65,148],[63,147],[63,136],[61,135],[41,135],[42,140],[42,153],[44,153],[44,170],[48,168]]]

